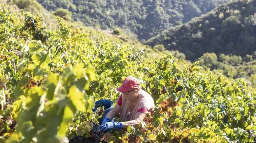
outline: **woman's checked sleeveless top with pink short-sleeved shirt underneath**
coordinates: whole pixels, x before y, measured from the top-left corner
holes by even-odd
[[[133,111],[130,111],[129,99],[124,99],[122,94],[119,97],[117,104],[121,106],[121,120],[127,121],[135,120],[135,114],[137,112],[148,113],[150,108],[155,107],[154,100],[151,95],[142,89],[139,91],[139,99]]]

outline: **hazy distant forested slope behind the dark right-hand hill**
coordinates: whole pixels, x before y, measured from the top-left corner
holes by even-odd
[[[149,39],[164,29],[207,13],[229,0],[37,0],[45,9],[68,9],[74,21],[132,31]],[[67,19],[66,19],[67,20]]]

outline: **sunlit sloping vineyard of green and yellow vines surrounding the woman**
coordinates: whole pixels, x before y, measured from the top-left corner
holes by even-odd
[[[256,141],[256,91],[242,79],[57,21],[49,28],[40,14],[1,6],[0,143]],[[96,133],[94,102],[116,104],[127,76],[156,107],[138,128]]]

